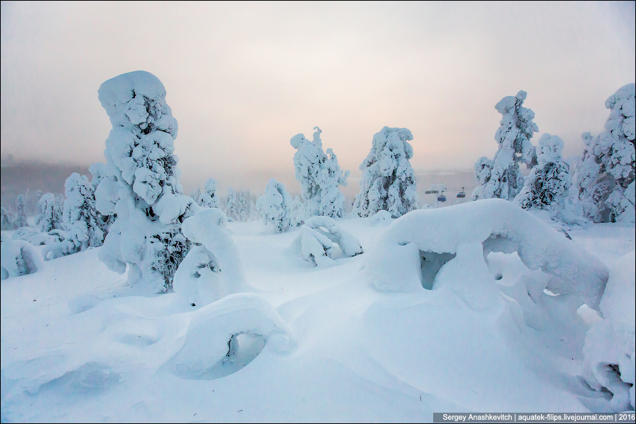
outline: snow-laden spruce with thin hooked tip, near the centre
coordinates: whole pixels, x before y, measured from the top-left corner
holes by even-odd
[[[314,129],[312,141],[305,139],[304,134],[296,134],[290,140],[292,147],[297,150],[294,167],[303,199],[300,214],[304,218],[319,215],[341,217],[345,213],[345,197],[338,186],[346,186],[349,171],[341,171],[331,148],[326,153],[322,151],[322,130],[317,126]]]

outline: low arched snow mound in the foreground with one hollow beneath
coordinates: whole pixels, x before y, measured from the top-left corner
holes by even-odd
[[[193,313],[184,346],[175,355],[175,371],[183,377],[205,378],[214,367],[232,360],[238,349],[235,336],[259,335],[276,353],[293,347],[288,325],[259,295],[239,293]]]

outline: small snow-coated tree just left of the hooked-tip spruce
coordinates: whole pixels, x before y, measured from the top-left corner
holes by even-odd
[[[275,232],[283,232],[293,227],[293,200],[285,190],[282,182],[271,178],[265,187],[265,194],[257,199],[257,211],[263,217],[265,224],[272,223]]]

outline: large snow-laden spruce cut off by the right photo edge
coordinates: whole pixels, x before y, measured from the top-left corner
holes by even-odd
[[[574,180],[587,218],[595,223],[635,222],[635,84],[605,101],[605,131],[582,134],[585,149]]]

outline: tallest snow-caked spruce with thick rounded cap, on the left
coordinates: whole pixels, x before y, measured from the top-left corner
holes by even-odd
[[[116,76],[98,93],[112,130],[95,201],[100,213],[117,214],[99,257],[119,273],[129,266],[131,282],[165,291],[190,247],[181,224],[199,207],[179,184],[177,120],[146,71]]]

